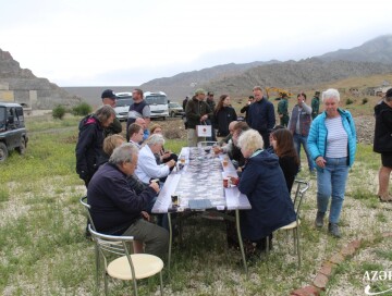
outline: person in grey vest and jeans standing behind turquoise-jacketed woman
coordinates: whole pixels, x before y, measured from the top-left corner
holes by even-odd
[[[310,157],[307,146],[307,137],[311,123],[311,108],[306,104],[306,94],[297,95],[297,104],[294,106],[292,115],[289,122],[289,131],[293,134],[294,147],[301,160],[301,145],[304,147],[310,174],[315,172],[315,164]]]

